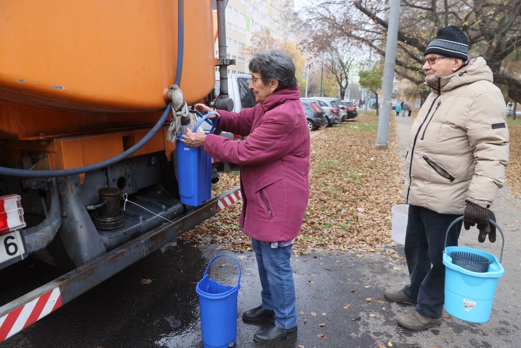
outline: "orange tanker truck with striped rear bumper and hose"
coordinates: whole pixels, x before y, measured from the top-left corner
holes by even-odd
[[[0,2],[0,269],[32,255],[69,270],[0,303],[0,342],[240,199],[181,204],[166,136],[173,83],[209,102],[218,65],[230,107],[225,6]]]

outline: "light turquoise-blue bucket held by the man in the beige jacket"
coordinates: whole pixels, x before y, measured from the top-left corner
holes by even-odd
[[[454,220],[447,229],[447,234],[452,225],[462,220],[463,217]],[[499,278],[505,274],[505,269],[501,265],[503,259],[503,248],[505,238],[503,231],[492,220],[496,229],[501,233],[503,243],[501,245],[501,256],[498,259],[486,251],[450,246],[447,247],[447,234],[445,234],[445,248],[443,250],[443,265],[445,265],[445,310],[447,313],[470,322],[486,322],[490,319],[492,304]],[[489,260],[486,272],[474,272],[455,265],[451,253],[453,252],[471,253],[485,257]]]

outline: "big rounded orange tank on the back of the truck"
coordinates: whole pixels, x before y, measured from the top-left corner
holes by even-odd
[[[0,138],[154,124],[176,79],[177,23],[177,1],[3,0]],[[184,1],[180,87],[189,104],[215,83],[213,31],[212,2]]]

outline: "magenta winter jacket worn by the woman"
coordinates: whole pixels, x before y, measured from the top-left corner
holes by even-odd
[[[309,198],[309,129],[298,87],[277,91],[239,113],[219,110],[217,128],[248,136],[208,135],[207,154],[241,165],[239,225],[258,241],[295,238]]]

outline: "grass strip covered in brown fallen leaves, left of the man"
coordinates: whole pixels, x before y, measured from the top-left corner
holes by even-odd
[[[375,150],[378,118],[320,129],[312,137],[310,196],[293,251],[383,250],[391,241],[391,207],[402,202],[402,165],[394,120],[389,149]],[[214,195],[239,184],[237,173],[221,174]],[[221,211],[181,236],[192,242],[217,242],[228,250],[251,250],[250,238],[238,228],[241,203]]]

